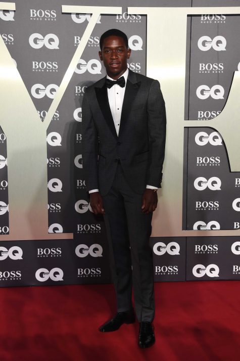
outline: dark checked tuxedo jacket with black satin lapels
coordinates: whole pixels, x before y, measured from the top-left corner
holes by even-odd
[[[160,187],[166,137],[166,113],[157,80],[129,70],[119,135],[111,114],[106,77],[87,87],[82,103],[83,170],[87,191],[105,196],[118,161],[131,188]]]

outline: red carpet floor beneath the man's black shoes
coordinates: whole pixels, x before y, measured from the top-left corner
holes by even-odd
[[[155,284],[156,344],[138,324],[102,334],[112,285],[0,289],[0,361],[238,361],[239,281]]]

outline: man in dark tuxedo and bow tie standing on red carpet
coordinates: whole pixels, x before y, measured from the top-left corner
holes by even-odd
[[[106,31],[99,56],[107,76],[89,86],[82,103],[83,169],[94,214],[104,214],[117,313],[100,331],[139,322],[140,347],[155,342],[153,211],[161,187],[166,114],[157,80],[127,68],[127,36]],[[161,221],[161,220],[160,220]]]

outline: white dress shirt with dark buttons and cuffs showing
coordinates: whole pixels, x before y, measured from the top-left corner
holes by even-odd
[[[123,105],[123,99],[124,99],[124,94],[125,94],[125,89],[126,89],[128,69],[121,76],[123,76],[125,79],[124,87],[121,87],[119,84],[114,84],[111,88],[108,88],[108,101],[109,101],[111,113],[113,116],[113,121],[114,121],[117,135],[119,133],[119,128],[120,128],[122,105]],[[116,80],[116,79],[110,78],[110,76],[108,76],[108,75],[107,75],[107,79]],[[157,187],[153,187],[153,186],[149,186],[149,185],[147,185],[146,188],[158,189]],[[89,191],[89,193],[94,193],[94,192],[99,192],[99,190],[92,189],[91,191]]]

